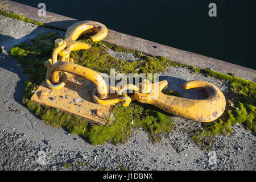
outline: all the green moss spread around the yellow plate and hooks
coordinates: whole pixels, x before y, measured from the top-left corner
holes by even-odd
[[[72,134],[81,135],[94,145],[110,142],[113,144],[125,143],[133,130],[141,127],[147,131],[153,142],[162,139],[164,133],[170,133],[174,128],[171,116],[151,105],[142,105],[132,102],[130,106],[115,106],[109,118],[106,118],[105,126],[96,125],[85,121],[75,115],[62,113],[61,111],[41,106],[30,101],[34,90],[46,76],[44,61],[49,58],[54,47],[54,40],[59,38],[55,33],[39,35],[30,43],[21,43],[10,49],[11,56],[15,57],[25,68],[24,72],[30,74],[24,84],[22,103],[30,110],[35,111],[37,117],[43,119],[47,125],[54,127],[66,127]],[[80,42],[89,43],[90,49],[73,51],[71,57],[76,64],[94,69],[95,71],[109,73],[111,68],[122,73],[159,73],[164,72],[169,66],[183,67],[193,73],[202,73],[227,82],[230,90],[230,98],[234,98],[234,106],[227,105],[225,113],[217,121],[203,123],[200,130],[191,131],[191,138],[204,150],[213,146],[213,139],[217,135],[232,133],[232,125],[243,123],[249,130],[255,132],[255,83],[238,77],[224,75],[208,69],[195,68],[189,65],[176,63],[166,57],[144,55],[137,51],[115,46],[105,42],[91,42],[90,39],[81,37]],[[139,61],[128,62],[112,57],[108,49],[119,52],[135,53],[141,58]],[[174,91],[164,94],[180,97]],[[125,114],[124,114],[125,113]],[[179,146],[174,143],[177,151]],[[178,147],[177,147],[178,146]]]

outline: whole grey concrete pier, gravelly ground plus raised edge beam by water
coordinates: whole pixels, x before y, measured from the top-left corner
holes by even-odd
[[[255,134],[239,123],[232,126],[232,134],[218,135],[214,139],[213,142],[222,147],[214,148],[214,151],[201,150],[189,137],[188,131],[200,129],[201,123],[179,117],[172,117],[176,129],[161,142],[152,143],[150,136],[140,128],[134,131],[134,135],[127,143],[117,146],[110,143],[93,146],[85,138],[72,135],[64,128],[46,126],[34,112],[22,105],[23,85],[28,75],[23,73],[22,66],[9,56],[8,51],[16,44],[30,42],[39,34],[54,31],[63,36],[68,26],[78,20],[48,11],[46,17],[40,18],[38,9],[13,1],[0,1],[0,10],[59,28],[51,30],[0,15],[0,46],[3,48],[0,52],[0,170],[119,170],[120,166],[132,170],[168,171],[256,169]],[[256,78],[253,69],[113,30],[109,30],[104,41],[149,55],[166,56],[168,59],[194,67],[212,68],[221,73],[233,72],[236,76],[250,81],[255,81]],[[168,81],[168,89],[179,90],[182,97],[199,95],[199,90],[180,89],[188,80],[208,81],[220,88],[224,94],[228,93],[221,80],[200,73],[191,73],[185,68],[170,67],[164,73],[160,73],[160,76]],[[182,152],[176,151],[177,146]],[[42,152],[46,155],[43,164],[39,163],[39,154]],[[212,154],[210,152],[216,154],[214,165],[209,164]],[[71,167],[65,167],[65,163],[71,163]]]

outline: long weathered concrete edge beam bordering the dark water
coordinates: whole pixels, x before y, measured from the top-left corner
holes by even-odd
[[[38,16],[38,9],[13,1],[0,2],[0,8],[2,11],[13,12],[26,18],[61,28],[62,30],[67,30],[68,26],[77,22],[76,19],[54,14],[48,11],[46,13],[46,17],[40,17]],[[84,20],[86,20],[86,17]],[[107,24],[106,26],[108,27]],[[147,53],[149,55],[165,56],[170,60],[192,65],[194,67],[212,68],[214,71],[224,74],[235,73],[236,76],[250,81],[255,81],[256,79],[256,71],[254,69],[241,67],[240,65],[235,65],[207,56],[198,55],[196,53],[182,51],[180,49],[164,46],[162,44],[137,38],[135,36],[122,34],[117,31],[109,30],[109,34],[104,39],[104,41],[135,49],[139,52]]]

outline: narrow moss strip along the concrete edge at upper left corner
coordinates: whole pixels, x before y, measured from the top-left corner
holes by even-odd
[[[42,23],[42,22],[36,22],[32,19],[28,19],[28,18],[24,18],[23,16],[14,14],[14,13],[10,13],[10,12],[6,12],[6,11],[0,11],[0,15],[9,17],[9,18],[14,18],[14,19],[18,19],[22,22],[26,22],[26,23],[31,23],[31,24],[35,24],[36,26],[43,26],[49,29],[53,29],[56,30],[56,28],[49,26],[48,24]]]

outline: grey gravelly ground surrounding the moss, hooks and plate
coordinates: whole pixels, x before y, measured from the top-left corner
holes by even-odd
[[[241,125],[233,127],[233,134],[216,137],[214,142],[220,144],[222,150],[207,152],[200,150],[188,136],[188,131],[201,127],[201,124],[179,117],[173,117],[176,129],[162,142],[152,143],[139,129],[127,143],[118,146],[109,143],[92,146],[86,139],[69,134],[65,129],[44,125],[21,104],[23,84],[28,75],[24,75],[23,68],[7,54],[15,44],[52,30],[4,16],[0,17],[0,23],[0,46],[3,48],[0,53],[1,170],[119,170],[120,166],[132,170],[256,169],[255,135]],[[116,53],[118,56],[120,54]],[[121,57],[135,61],[133,56],[122,53]],[[183,89],[183,83],[189,80],[209,81],[224,94],[227,92],[220,80],[192,74],[183,68],[170,67],[160,74],[159,80],[167,80],[168,89],[178,91],[183,97],[205,97],[199,90]],[[177,147],[182,151],[180,154],[176,152]],[[212,160],[212,155],[216,159]]]

